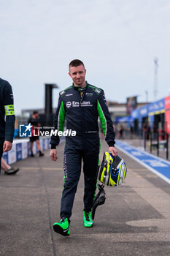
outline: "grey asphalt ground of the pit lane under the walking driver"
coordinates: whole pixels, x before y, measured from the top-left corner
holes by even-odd
[[[98,206],[92,228],[83,227],[83,174],[74,200],[71,235],[53,231],[59,220],[63,188],[63,144],[58,162],[45,157],[16,162],[15,176],[0,176],[0,255],[95,256],[170,255],[170,186],[127,157],[121,187],[105,187],[106,203]],[[101,155],[107,151],[101,142]]]

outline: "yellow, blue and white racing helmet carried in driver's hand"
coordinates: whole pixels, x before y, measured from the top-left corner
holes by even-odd
[[[120,156],[113,157],[111,153],[105,152],[98,179],[107,186],[120,186],[126,176],[127,167]]]

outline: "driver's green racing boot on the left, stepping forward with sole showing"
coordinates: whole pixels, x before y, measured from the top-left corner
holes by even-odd
[[[60,220],[60,223],[55,222],[53,224],[53,230],[55,232],[61,234],[62,236],[69,236],[69,234],[70,234],[69,224],[70,224],[70,220],[63,217]]]

